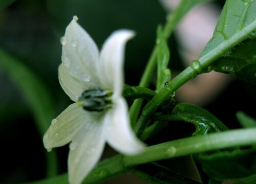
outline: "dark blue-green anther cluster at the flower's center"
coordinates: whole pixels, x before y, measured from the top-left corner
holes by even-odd
[[[110,90],[101,88],[88,89],[83,91],[78,98],[77,105],[88,111],[103,111],[112,106],[111,95],[112,92]]]

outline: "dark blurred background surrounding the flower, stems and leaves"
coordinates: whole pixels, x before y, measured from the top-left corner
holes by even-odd
[[[201,28],[196,22],[203,18],[203,14],[209,13],[203,11],[202,14],[196,16],[196,19],[187,20],[192,24],[188,25],[184,21],[177,28],[178,31],[170,37],[168,41],[170,69],[173,75],[177,75],[191,60],[199,56],[207,42],[207,38],[204,38],[205,43],[193,41],[196,45],[190,48],[196,48],[196,50],[189,51],[189,46],[186,46],[189,43],[182,40],[182,37],[187,34],[194,38],[204,33],[211,35],[223,4],[224,1],[215,1],[207,5],[209,9],[214,9],[215,13],[208,16],[209,19],[212,18],[212,23],[209,23],[210,20],[206,18],[201,26],[205,27],[208,22],[209,26],[206,27],[212,28],[209,29],[211,33],[206,33],[207,30],[204,29],[193,29]],[[171,0],[169,2],[155,0],[2,0],[0,2],[0,49],[26,65],[44,83],[47,95],[53,99],[51,103],[54,108],[51,116],[48,117],[50,124],[51,119],[71,103],[59,85],[57,68],[61,62],[59,40],[74,15],[78,16],[79,24],[92,36],[99,49],[104,40],[117,29],[126,28],[136,31],[136,37],[126,46],[125,82],[138,85],[155,45],[156,28],[158,25],[164,25],[167,12],[172,11],[174,7],[175,4],[172,4]],[[194,17],[194,15],[189,14],[187,18],[189,17]],[[187,30],[187,32],[182,32],[182,30]],[[202,33],[198,34],[200,30]],[[14,73],[20,72],[14,71]],[[155,84],[154,79],[153,77],[152,86]],[[42,145],[42,136],[36,128],[33,107],[20,88],[11,79],[10,72],[2,67],[0,61],[0,145],[2,146],[0,183],[27,182],[46,176],[46,152]],[[255,92],[255,86],[252,84],[232,80],[228,75],[216,77],[214,74],[206,81],[197,77],[189,82],[187,86],[177,91],[177,101],[198,104],[213,113],[229,128],[239,128],[235,116],[238,110],[245,111],[255,118],[255,108],[249,107],[256,102]],[[180,122],[173,123],[148,140],[147,144],[179,139],[189,136],[191,131],[193,131],[193,126]],[[67,172],[69,148],[64,146],[56,150],[59,161],[58,173],[65,173]],[[115,152],[106,146],[104,157],[113,154]],[[181,174],[193,177],[195,172],[191,172],[190,167],[184,168],[184,165],[180,164],[187,158],[182,159],[183,161],[181,158],[169,160],[168,166]],[[109,183],[112,182],[114,181]],[[118,183],[118,180],[116,182]],[[122,183],[124,182],[122,179]],[[139,179],[137,182],[143,183]]]

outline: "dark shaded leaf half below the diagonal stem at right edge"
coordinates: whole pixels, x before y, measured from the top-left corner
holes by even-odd
[[[256,39],[247,39],[214,63],[216,72],[256,84]]]

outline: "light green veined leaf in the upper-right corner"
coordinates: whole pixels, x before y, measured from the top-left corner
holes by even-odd
[[[199,57],[198,69],[206,70],[210,64],[249,38],[256,29],[256,1],[227,0],[215,28],[214,35]],[[200,72],[200,70],[198,70]]]

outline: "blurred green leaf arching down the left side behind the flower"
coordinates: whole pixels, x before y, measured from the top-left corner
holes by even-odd
[[[53,98],[46,85],[18,59],[12,57],[0,48],[0,66],[17,85],[20,93],[27,101],[35,119],[39,135],[42,137],[55,117]],[[32,139],[32,137],[31,137]],[[47,154],[48,176],[57,172],[56,152]]]

